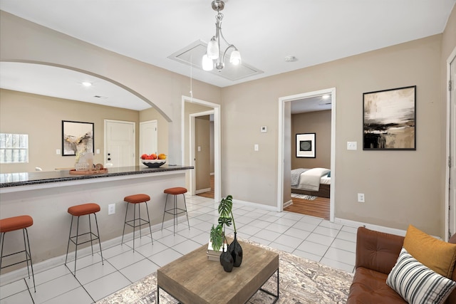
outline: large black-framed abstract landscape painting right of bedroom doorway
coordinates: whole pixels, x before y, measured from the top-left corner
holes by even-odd
[[[363,93],[363,150],[416,150],[416,85]]]

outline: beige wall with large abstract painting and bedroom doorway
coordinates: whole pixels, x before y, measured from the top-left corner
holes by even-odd
[[[396,229],[414,224],[441,235],[441,43],[441,35],[430,36],[223,88],[222,195],[274,206],[278,99],[336,88],[336,218]],[[406,85],[417,85],[417,150],[363,151],[363,93]],[[260,125],[268,125],[263,145]],[[358,142],[358,150],[346,150],[347,141]],[[257,154],[255,142],[260,142]],[[243,157],[232,157],[239,151]],[[357,202],[357,193],[365,194],[366,203]]]

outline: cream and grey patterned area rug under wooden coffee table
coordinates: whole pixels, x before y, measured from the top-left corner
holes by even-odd
[[[353,274],[329,266],[309,261],[306,258],[294,256],[291,253],[279,251],[269,246],[264,246],[249,240],[246,243],[269,249],[279,253],[279,300],[282,304],[304,303],[346,303],[348,291]],[[241,266],[242,267],[242,266]],[[222,271],[222,268],[221,268]],[[263,288],[276,292],[277,277],[274,274]],[[271,303],[270,295],[258,291],[249,300],[252,304]],[[98,301],[100,304],[117,303],[157,303],[157,278],[156,273],[142,278],[117,293]],[[165,291],[160,290],[160,303],[178,303]]]

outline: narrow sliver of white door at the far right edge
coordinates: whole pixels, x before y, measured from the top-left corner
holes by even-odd
[[[456,51],[456,50],[455,50]],[[450,231],[449,236],[456,233],[456,55],[450,62]]]

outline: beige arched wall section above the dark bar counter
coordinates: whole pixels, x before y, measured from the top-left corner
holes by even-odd
[[[138,95],[170,122],[168,162],[181,164],[182,95],[190,78],[157,68],[0,11],[0,61],[56,65],[95,75]],[[192,81],[195,98],[219,103],[214,85]]]

